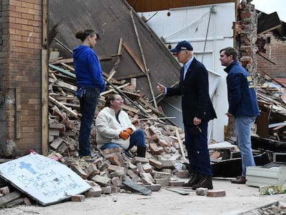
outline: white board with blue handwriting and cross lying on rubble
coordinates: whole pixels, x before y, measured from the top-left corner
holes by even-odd
[[[84,179],[65,165],[34,153],[0,164],[0,176],[41,205],[57,203],[90,189]]]

